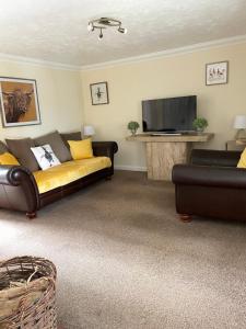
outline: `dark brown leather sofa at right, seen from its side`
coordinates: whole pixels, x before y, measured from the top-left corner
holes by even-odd
[[[246,220],[246,170],[236,168],[239,157],[239,151],[194,149],[189,164],[174,166],[181,220],[192,215]]]

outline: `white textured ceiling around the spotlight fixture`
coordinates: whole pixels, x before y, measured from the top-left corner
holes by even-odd
[[[128,29],[89,32],[89,20]],[[246,34],[246,0],[0,0],[0,53],[85,66]]]

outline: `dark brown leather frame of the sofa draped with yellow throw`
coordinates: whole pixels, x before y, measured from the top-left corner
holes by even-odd
[[[68,139],[81,139],[80,133],[61,134],[65,143]],[[36,212],[61,197],[71,194],[99,179],[110,179],[114,174],[114,155],[118,150],[115,141],[92,143],[94,156],[109,157],[112,167],[87,174],[72,183],[54,189],[46,193],[38,193],[33,173],[23,166],[0,166],[0,207],[21,211],[28,218],[34,218]]]

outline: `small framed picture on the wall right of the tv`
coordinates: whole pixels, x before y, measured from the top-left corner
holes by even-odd
[[[229,61],[206,65],[206,84],[223,84],[229,82]]]

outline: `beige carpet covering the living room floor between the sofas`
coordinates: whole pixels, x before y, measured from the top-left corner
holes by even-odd
[[[116,172],[28,222],[0,211],[0,256],[58,269],[59,322],[75,328],[246,328],[246,225],[180,223],[171,183]]]

